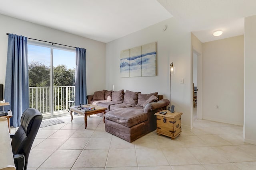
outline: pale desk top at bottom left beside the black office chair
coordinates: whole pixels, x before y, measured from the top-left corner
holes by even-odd
[[[16,170],[8,133],[7,118],[0,117],[0,170]]]

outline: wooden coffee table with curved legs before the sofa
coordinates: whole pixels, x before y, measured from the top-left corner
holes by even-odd
[[[106,113],[107,108],[100,107],[100,106],[95,106],[95,105],[92,105],[92,104],[86,104],[86,105],[82,105],[82,107],[95,107],[96,110],[82,111],[80,109],[77,109],[77,107],[79,107],[79,106],[70,107],[70,112],[69,113],[70,113],[70,116],[71,116],[71,121],[73,120],[73,115],[72,115],[73,112],[78,113],[80,115],[84,115],[84,124],[85,124],[85,129],[86,129],[86,127],[87,127],[87,116],[94,115],[96,113],[104,113],[103,121],[105,123],[105,113]]]

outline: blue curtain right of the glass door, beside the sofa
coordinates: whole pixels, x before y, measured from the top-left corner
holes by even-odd
[[[87,104],[86,49],[76,48],[75,105]]]

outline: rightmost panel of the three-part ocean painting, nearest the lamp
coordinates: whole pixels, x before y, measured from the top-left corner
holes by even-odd
[[[142,76],[156,76],[156,42],[142,45]]]

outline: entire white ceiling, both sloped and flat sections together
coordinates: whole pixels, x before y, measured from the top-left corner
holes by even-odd
[[[256,0],[2,0],[0,14],[104,43],[173,16],[208,42],[244,34]]]

